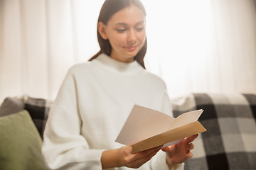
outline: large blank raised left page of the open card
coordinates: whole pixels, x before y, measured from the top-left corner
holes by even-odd
[[[165,132],[175,118],[150,108],[134,105],[115,142],[131,146]]]

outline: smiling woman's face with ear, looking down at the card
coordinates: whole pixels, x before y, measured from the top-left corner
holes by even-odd
[[[146,40],[145,17],[134,5],[114,13],[107,26],[99,23],[102,38],[108,39],[112,46],[110,57],[120,62],[133,62]]]

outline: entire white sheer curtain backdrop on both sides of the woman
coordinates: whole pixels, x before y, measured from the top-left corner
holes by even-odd
[[[0,102],[28,94],[53,100],[68,68],[99,47],[104,0],[0,0]],[[190,92],[256,93],[253,0],[142,0],[146,67],[171,98]]]

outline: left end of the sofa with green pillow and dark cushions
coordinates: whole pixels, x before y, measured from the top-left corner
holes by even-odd
[[[43,130],[52,101],[7,97],[0,106],[0,169],[45,170]]]

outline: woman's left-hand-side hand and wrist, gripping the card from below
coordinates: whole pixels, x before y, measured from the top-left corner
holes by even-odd
[[[127,166],[129,168],[137,169],[146,162],[148,162],[151,157],[159,152],[163,147],[154,147],[152,149],[147,149],[143,152],[138,152],[136,154],[132,153],[132,147],[125,146],[119,149],[106,150],[102,152],[102,169],[114,168],[120,166]]]

